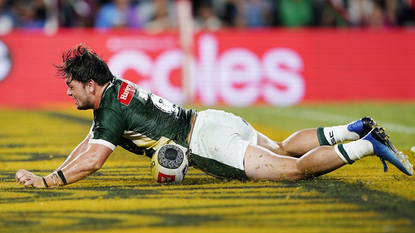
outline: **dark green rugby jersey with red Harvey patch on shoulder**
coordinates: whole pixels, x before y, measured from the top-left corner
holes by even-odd
[[[114,77],[94,110],[88,143],[111,150],[126,150],[151,158],[169,143],[188,148],[190,121],[195,110],[185,109],[143,90],[128,80]]]

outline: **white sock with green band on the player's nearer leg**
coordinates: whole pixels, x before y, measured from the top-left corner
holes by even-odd
[[[339,143],[334,146],[337,155],[344,163],[352,164],[354,161],[366,156],[374,155],[373,145],[367,140],[357,140],[349,143]]]

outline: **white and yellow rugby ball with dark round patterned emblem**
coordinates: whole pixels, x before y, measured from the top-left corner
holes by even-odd
[[[186,176],[189,161],[181,148],[167,144],[151,157],[151,175],[159,183],[179,183]]]

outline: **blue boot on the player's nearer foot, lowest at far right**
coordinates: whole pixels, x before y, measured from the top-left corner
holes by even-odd
[[[376,127],[362,139],[372,144],[374,153],[381,159],[385,172],[388,171],[388,166],[385,161],[388,161],[406,175],[413,175],[413,166],[409,163],[408,156],[393,146],[384,128]]]

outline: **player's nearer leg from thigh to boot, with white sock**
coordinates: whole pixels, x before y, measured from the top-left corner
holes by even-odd
[[[389,136],[380,127],[374,128],[357,141],[339,143],[336,146],[319,146],[301,158],[277,155],[251,143],[245,152],[244,167],[247,176],[252,179],[299,180],[326,174],[375,154],[405,174],[413,175],[413,167],[408,161],[408,156],[400,153],[392,145]]]

